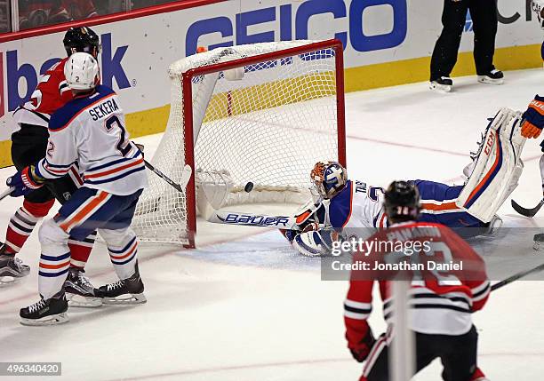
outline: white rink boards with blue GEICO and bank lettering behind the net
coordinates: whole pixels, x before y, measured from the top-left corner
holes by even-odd
[[[490,9],[490,12],[492,10]],[[119,91],[127,113],[170,103],[168,66],[200,45],[336,37],[345,66],[430,55],[441,30],[437,0],[232,0],[92,27],[101,38],[102,82]],[[498,47],[540,43],[530,0],[500,0]],[[472,47],[468,16],[461,50]],[[0,139],[9,113],[30,99],[39,75],[65,55],[62,33],[1,44]]]

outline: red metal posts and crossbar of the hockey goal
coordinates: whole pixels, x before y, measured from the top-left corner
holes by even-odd
[[[340,40],[332,39],[320,41],[303,46],[283,49],[277,52],[264,53],[243,59],[220,62],[204,67],[194,67],[181,74],[183,88],[183,118],[185,139],[185,163],[193,169],[193,174],[186,188],[186,210],[188,226],[188,244],[184,247],[195,248],[196,234],[196,183],[195,183],[195,140],[193,135],[193,86],[192,80],[197,75],[217,73],[235,67],[258,64],[266,60],[281,60],[293,55],[315,52],[320,49],[334,50],[336,67],[336,107],[337,107],[337,132],[338,132],[338,161],[344,167],[346,163],[346,110],[344,98],[344,48]],[[186,101],[186,99],[188,101]],[[308,169],[309,172],[309,169]]]

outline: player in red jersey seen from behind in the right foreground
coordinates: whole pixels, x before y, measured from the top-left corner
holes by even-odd
[[[476,365],[477,333],[471,319],[471,313],[484,307],[491,290],[484,261],[450,228],[415,222],[420,211],[419,198],[417,187],[409,182],[396,181],[388,187],[384,207],[392,225],[367,240],[375,242],[374,249],[367,253],[357,252],[354,264],[365,262],[373,269],[372,262],[395,263],[391,262],[395,255],[399,265],[398,258],[410,258],[411,262],[422,264],[422,269],[411,267],[402,271],[404,279],[412,280],[408,314],[409,329],[415,337],[416,372],[438,357],[444,365],[442,377],[445,381],[487,380]],[[425,249],[407,257],[406,252],[391,254],[393,243],[396,248],[402,243],[404,247]],[[431,261],[463,262],[464,269],[436,271],[428,266]],[[395,335],[392,334],[391,281],[388,279],[399,274],[401,272],[395,268],[380,272],[351,272],[344,320],[349,350],[356,361],[366,361],[360,381],[389,379],[388,348]],[[374,339],[367,322],[372,311],[372,287],[376,281],[384,303],[384,317],[388,321],[388,332],[378,340]]]

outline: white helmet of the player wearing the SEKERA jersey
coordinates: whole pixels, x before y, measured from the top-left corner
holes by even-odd
[[[66,61],[64,76],[70,89],[91,90],[99,82],[98,62],[89,53],[76,52]]]

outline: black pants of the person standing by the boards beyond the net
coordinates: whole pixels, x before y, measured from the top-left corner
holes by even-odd
[[[436,41],[431,58],[430,80],[449,76],[457,62],[463,28],[470,10],[474,29],[474,61],[476,74],[492,71],[497,35],[497,0],[444,0],[442,34]]]

